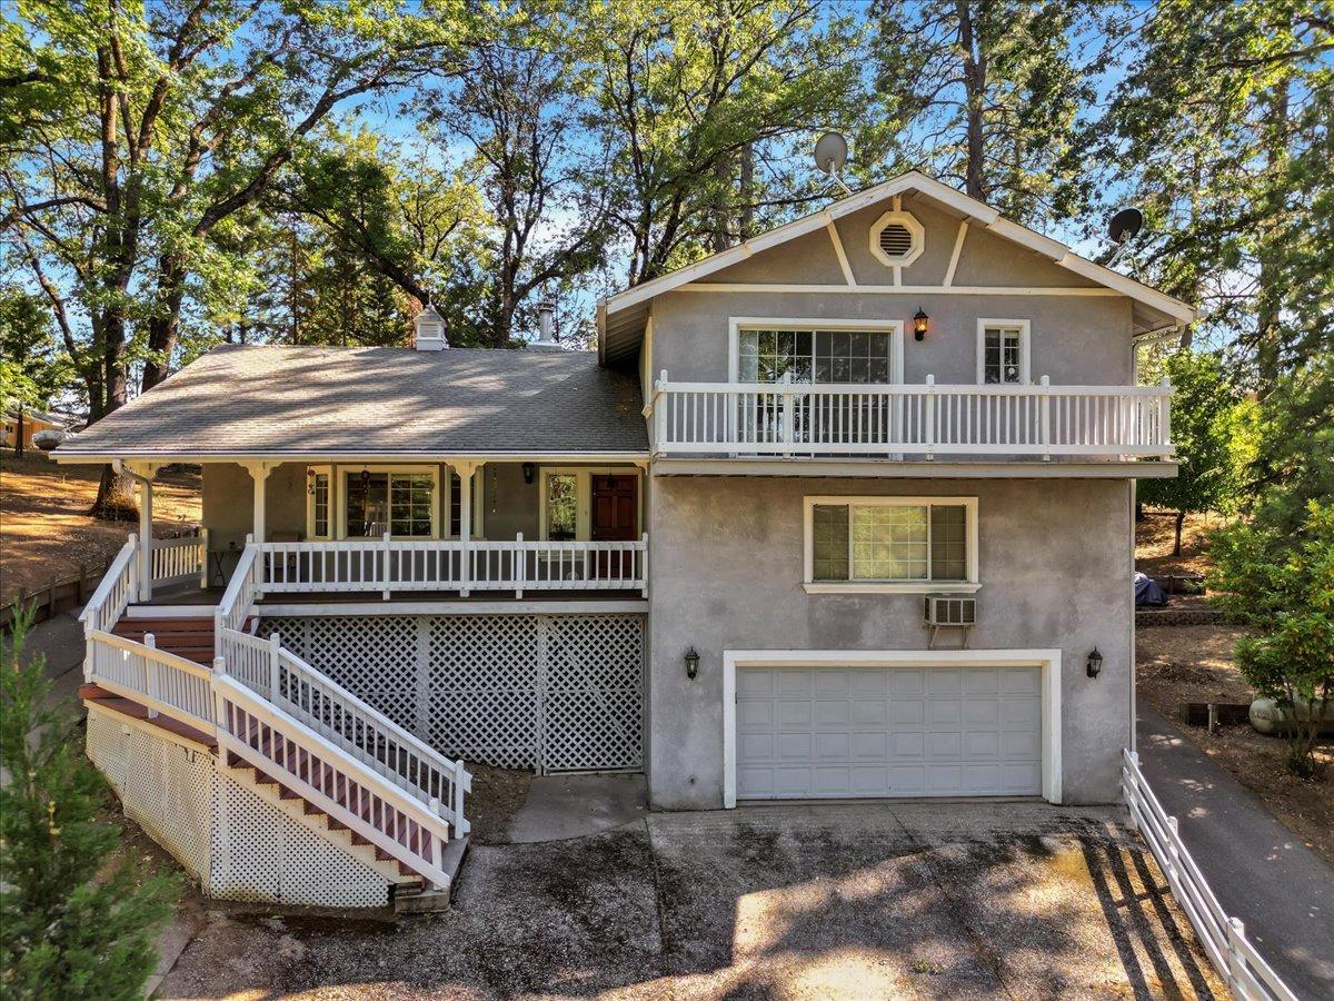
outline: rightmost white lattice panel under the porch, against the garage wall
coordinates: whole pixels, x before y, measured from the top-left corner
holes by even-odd
[[[543,770],[643,767],[643,619],[544,618]]]

